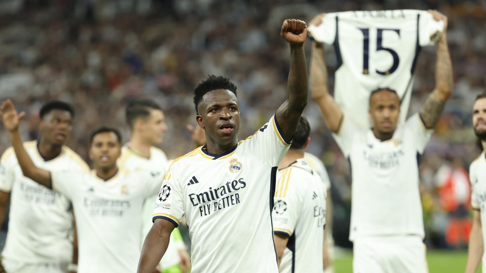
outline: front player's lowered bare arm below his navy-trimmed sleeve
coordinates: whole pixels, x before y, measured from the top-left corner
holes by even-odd
[[[167,250],[174,228],[175,226],[169,221],[155,219],[154,225],[152,225],[143,242],[137,273],[152,273],[154,271]]]

